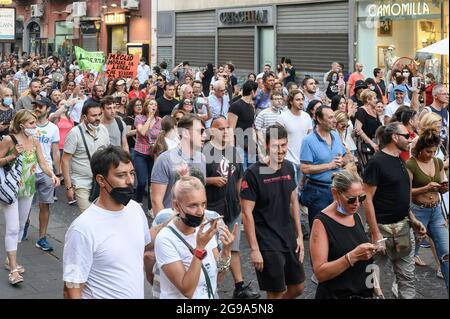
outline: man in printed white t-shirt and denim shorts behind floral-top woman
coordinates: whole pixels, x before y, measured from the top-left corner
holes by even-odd
[[[60,173],[60,153],[59,153],[59,128],[48,120],[48,111],[50,107],[43,100],[35,101],[33,106],[36,121],[36,138],[41,144],[42,153],[48,167],[56,168],[56,176],[61,177]],[[53,163],[52,163],[53,158]],[[52,251],[47,240],[47,227],[50,215],[50,204],[54,203],[53,193],[55,186],[52,179],[45,174],[40,166],[36,168],[36,199],[39,203],[39,240],[36,247],[44,251]]]

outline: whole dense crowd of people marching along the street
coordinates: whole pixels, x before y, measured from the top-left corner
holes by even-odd
[[[449,94],[433,74],[404,66],[387,83],[379,68],[366,77],[361,63],[349,74],[333,62],[320,83],[283,58],[239,83],[231,63],[167,67],[141,58],[136,78],[104,79],[76,60],[1,63],[11,285],[24,282],[33,197],[36,247],[53,249],[61,183],[80,211],[65,238],[66,298],[143,298],[145,272],[154,298],[212,299],[228,270],[233,298],[260,298],[243,277],[241,223],[267,298],[305,284],[320,299],[380,298],[387,260],[394,294],[414,298],[425,242],[448,289]]]

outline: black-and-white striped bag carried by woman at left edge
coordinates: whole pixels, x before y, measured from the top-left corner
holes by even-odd
[[[14,145],[17,139],[9,135]],[[17,200],[20,186],[20,175],[22,174],[22,155],[19,155],[14,164],[0,167],[0,202],[11,205]]]

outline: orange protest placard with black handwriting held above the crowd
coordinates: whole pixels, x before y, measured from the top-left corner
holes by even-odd
[[[134,79],[137,77],[139,55],[110,53],[106,62],[108,78]]]

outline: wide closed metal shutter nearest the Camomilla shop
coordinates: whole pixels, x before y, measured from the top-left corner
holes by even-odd
[[[347,2],[278,6],[278,60],[291,58],[301,78],[328,71],[333,61],[346,65],[348,10]]]

